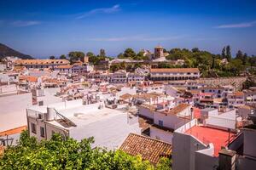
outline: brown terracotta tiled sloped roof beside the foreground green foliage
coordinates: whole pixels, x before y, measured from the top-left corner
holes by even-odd
[[[123,150],[131,156],[141,155],[143,160],[156,164],[160,157],[172,155],[172,144],[130,133],[119,150]]]

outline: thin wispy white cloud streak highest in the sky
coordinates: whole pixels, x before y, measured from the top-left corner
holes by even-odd
[[[92,14],[113,14],[113,13],[118,12],[119,10],[121,10],[119,4],[113,5],[113,7],[110,7],[110,8],[95,8],[95,9],[92,9],[84,14],[79,14],[79,16],[76,19],[83,19]]]

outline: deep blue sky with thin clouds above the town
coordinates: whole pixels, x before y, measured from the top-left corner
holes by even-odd
[[[256,54],[256,1],[0,1],[0,42],[34,57],[230,44]]]

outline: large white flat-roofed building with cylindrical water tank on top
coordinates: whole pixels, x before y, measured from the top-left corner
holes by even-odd
[[[38,140],[61,133],[81,140],[94,137],[92,147],[119,148],[129,133],[140,133],[138,123],[123,111],[105,108],[102,103],[83,105],[82,99],[32,106],[26,110],[28,132]]]

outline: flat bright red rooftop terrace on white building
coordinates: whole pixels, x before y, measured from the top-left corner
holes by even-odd
[[[229,144],[229,132],[212,127],[194,126],[185,132],[200,140],[203,144],[214,145],[214,156],[218,156],[221,146]],[[230,142],[235,139],[235,133],[230,132]]]

